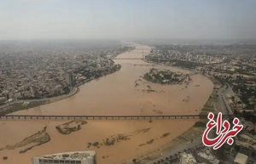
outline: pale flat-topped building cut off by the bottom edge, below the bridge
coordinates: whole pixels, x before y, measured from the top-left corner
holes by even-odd
[[[96,152],[73,151],[32,158],[32,164],[96,164]]]

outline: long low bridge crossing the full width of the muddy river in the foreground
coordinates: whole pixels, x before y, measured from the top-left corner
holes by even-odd
[[[223,115],[224,118],[234,118],[234,115]],[[207,115],[183,116],[42,116],[42,115],[4,115],[0,120],[155,120],[155,119],[203,119]]]

